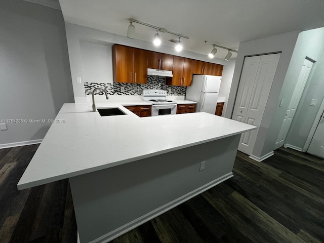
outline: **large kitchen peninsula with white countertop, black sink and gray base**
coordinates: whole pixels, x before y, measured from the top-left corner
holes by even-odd
[[[80,242],[107,242],[231,178],[240,134],[205,112],[100,116],[64,104],[17,187],[69,178]]]

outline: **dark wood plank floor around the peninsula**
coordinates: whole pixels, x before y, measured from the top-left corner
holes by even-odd
[[[0,149],[0,242],[76,242],[67,180],[16,189],[37,147]],[[112,242],[324,242],[323,159],[280,148],[258,163],[238,152],[233,174]]]

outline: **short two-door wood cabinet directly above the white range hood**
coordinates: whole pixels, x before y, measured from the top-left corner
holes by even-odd
[[[159,52],[148,52],[147,67],[172,71],[173,55]]]

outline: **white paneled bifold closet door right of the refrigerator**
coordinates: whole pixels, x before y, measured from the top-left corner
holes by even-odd
[[[257,58],[259,58],[259,63]],[[280,54],[278,53],[245,59],[245,63],[247,61],[248,63],[251,62],[251,64],[247,64],[247,66],[244,64],[242,69],[233,119],[260,126],[279,58]],[[251,155],[258,131],[259,129],[243,133],[238,150]]]

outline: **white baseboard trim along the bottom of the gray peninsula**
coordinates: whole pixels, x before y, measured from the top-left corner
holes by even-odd
[[[151,211],[150,213],[147,213],[146,215],[143,215],[107,234],[104,234],[92,241],[90,241],[90,243],[97,243],[97,242],[109,242],[110,240],[113,240],[115,238],[117,238],[118,236],[122,235],[122,234],[125,234],[126,232],[138,227],[139,225],[169,211],[170,209],[173,209],[175,207],[177,207],[178,205],[184,203],[185,201],[189,200],[190,198],[218,185],[219,183],[229,179],[229,178],[232,178],[233,177],[233,173],[230,172],[224,176],[221,176],[213,181],[211,181],[210,183],[204,185],[204,186],[201,186],[173,201],[171,201],[170,203],[164,205],[164,206],[161,206],[153,211]]]

